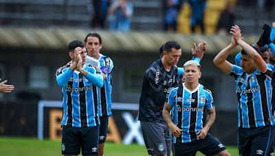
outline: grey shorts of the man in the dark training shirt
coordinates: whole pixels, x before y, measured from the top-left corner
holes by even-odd
[[[140,121],[148,155],[167,154],[170,156],[172,135],[168,125]]]

